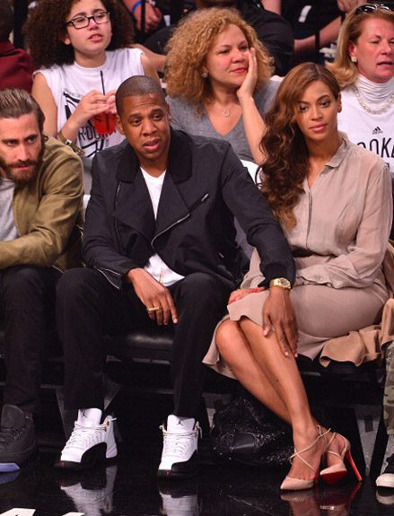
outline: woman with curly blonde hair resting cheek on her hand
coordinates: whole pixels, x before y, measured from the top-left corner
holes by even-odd
[[[262,116],[278,86],[271,73],[271,57],[236,11],[189,14],[168,43],[172,127],[227,140],[241,159],[260,163]]]

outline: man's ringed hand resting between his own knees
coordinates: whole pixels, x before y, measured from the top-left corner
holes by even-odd
[[[178,313],[169,289],[157,282],[143,268],[128,271],[127,283],[133,285],[136,295],[144,303],[150,319],[166,326],[178,322]]]

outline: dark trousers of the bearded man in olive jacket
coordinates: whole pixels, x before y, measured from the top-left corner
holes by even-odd
[[[48,328],[54,327],[55,293],[61,273],[53,267],[0,270],[6,380],[4,404],[37,414],[39,382]]]

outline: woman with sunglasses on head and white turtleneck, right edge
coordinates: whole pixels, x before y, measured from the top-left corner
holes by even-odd
[[[394,8],[363,4],[346,18],[328,68],[343,88],[338,127],[394,175]]]

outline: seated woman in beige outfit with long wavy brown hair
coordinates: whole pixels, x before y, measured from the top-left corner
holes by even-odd
[[[255,251],[205,359],[222,372],[224,361],[246,389],[292,425],[292,468],[281,485],[286,490],[311,488],[323,456],[320,477],[329,483],[346,475],[345,458],[354,466],[346,438],[311,415],[297,354],[313,359],[327,339],[378,321],[388,299],[381,264],[392,214],[390,173],[378,156],[337,131],[340,109],[339,86],[328,70],[296,66],[281,83],[262,140],[267,161],[260,188],[296,261],[290,299],[297,349],[280,344],[270,329]]]

